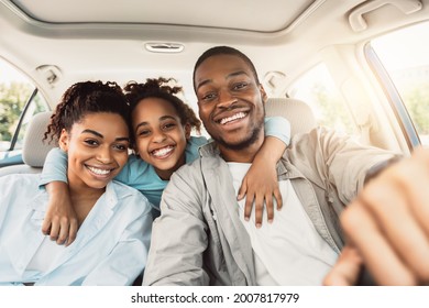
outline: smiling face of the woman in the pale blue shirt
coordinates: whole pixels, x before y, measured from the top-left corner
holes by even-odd
[[[88,113],[63,130],[59,146],[68,154],[69,185],[105,188],[128,161],[129,130],[117,113]]]

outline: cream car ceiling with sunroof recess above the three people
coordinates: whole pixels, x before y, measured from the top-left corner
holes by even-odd
[[[276,72],[289,82],[326,46],[429,15],[429,0],[406,0],[424,4],[413,14],[395,1],[0,0],[0,56],[30,75],[48,100],[82,79],[124,84],[158,76],[176,77],[191,97],[194,64],[213,45],[238,47],[261,77]],[[363,2],[380,8],[358,14],[358,25],[361,18],[367,28],[356,30],[350,15]],[[51,74],[57,79],[50,84]]]

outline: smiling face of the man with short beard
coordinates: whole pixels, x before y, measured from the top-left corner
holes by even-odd
[[[263,138],[265,92],[239,56],[216,55],[196,69],[199,117],[221,147],[243,150]]]

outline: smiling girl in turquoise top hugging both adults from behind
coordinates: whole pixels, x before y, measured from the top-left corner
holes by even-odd
[[[195,161],[198,157],[198,147],[207,143],[207,139],[202,136],[190,135],[193,129],[199,133],[201,122],[193,109],[178,98],[182,88],[172,86],[172,82],[173,79],[158,78],[147,79],[144,84],[131,81],[124,87],[131,105],[135,155],[130,155],[129,163],[117,179],[139,189],[147,197],[153,205],[154,218],[160,216],[161,195],[172,174],[184,164]],[[266,120],[266,135],[276,138],[266,139],[267,144],[255,158],[239,194],[239,199],[246,194],[248,218],[252,202],[256,199],[256,223],[262,220],[264,199],[267,204],[268,220],[273,219],[273,195],[277,207],[282,207],[275,166],[289,141],[289,123],[286,119],[271,118]],[[66,182],[63,176],[66,158],[58,150],[53,150],[46,158],[42,184],[54,182],[47,186],[55,185],[55,189],[50,187],[53,215],[45,219],[43,231],[51,231],[51,238],[57,239],[58,243],[63,243],[68,237],[69,244],[75,238],[74,213],[67,206],[66,187],[58,183]],[[63,220],[59,217],[63,217]]]

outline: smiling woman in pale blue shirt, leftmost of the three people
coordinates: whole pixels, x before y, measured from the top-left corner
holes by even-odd
[[[51,135],[68,155],[70,208],[79,237],[57,245],[41,232],[47,193],[38,175],[0,178],[0,285],[131,285],[143,271],[152,217],[147,199],[112,180],[127,164],[129,106],[112,82],[72,86]]]

